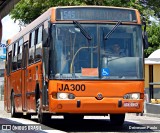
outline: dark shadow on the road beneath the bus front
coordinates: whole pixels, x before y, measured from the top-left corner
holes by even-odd
[[[123,126],[110,123],[109,119],[84,119],[81,121],[66,121],[52,119],[45,126],[65,132],[153,132],[144,125],[125,121]]]

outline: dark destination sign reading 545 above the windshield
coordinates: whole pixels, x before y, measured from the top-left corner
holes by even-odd
[[[56,20],[108,20],[136,22],[134,10],[118,8],[58,8]]]

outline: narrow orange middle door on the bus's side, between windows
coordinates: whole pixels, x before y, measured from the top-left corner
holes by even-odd
[[[27,63],[28,62],[28,42],[24,43],[22,54],[22,110],[27,111]]]

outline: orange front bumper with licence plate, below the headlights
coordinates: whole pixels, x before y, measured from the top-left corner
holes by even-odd
[[[50,97],[49,112],[51,113],[142,113],[143,99],[127,100],[121,98],[76,97],[71,100],[58,100]]]

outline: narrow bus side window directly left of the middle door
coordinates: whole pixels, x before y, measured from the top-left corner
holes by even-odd
[[[23,45],[23,39],[20,39],[18,45],[18,69],[20,69],[22,66],[22,45]]]

